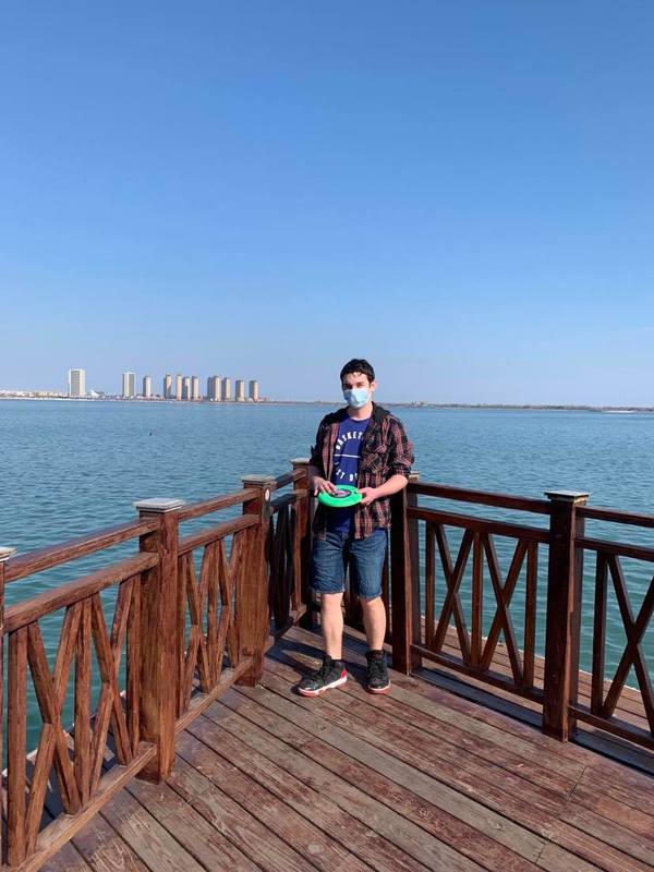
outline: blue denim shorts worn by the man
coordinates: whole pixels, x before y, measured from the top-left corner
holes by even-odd
[[[375,530],[365,538],[327,531],[325,538],[313,541],[311,586],[317,593],[342,593],[349,564],[351,590],[362,600],[382,596],[386,543],[386,530]]]

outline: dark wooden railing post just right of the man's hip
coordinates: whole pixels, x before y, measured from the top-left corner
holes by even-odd
[[[417,473],[412,473],[417,476]],[[411,481],[411,480],[410,480]],[[415,628],[420,627],[417,582],[417,533],[411,532],[407,517],[415,495],[408,487],[390,498],[390,621],[392,668],[409,675],[420,667],[420,657],[411,650]],[[410,502],[411,501],[411,502]]]

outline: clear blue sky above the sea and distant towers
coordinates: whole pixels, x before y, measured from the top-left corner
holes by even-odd
[[[0,388],[654,404],[650,0],[7,0]]]

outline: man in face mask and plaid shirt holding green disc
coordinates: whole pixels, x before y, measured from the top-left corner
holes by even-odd
[[[400,421],[373,402],[377,383],[367,361],[347,363],[340,380],[348,405],[320,422],[308,485],[316,495],[336,494],[339,484],[353,485],[363,499],[350,508],[318,504],[311,586],[322,597],[325,653],[320,668],[298,686],[305,697],[317,697],[347,681],[341,603],[348,564],[351,589],[361,598],[368,644],[366,688],[371,693],[386,693],[390,687],[384,652],[382,572],[390,525],[389,497],[407,486],[413,452]]]

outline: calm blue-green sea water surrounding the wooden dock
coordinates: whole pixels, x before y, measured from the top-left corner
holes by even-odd
[[[134,517],[132,502],[141,498],[196,500],[238,488],[242,474],[286,472],[290,458],[307,455],[326,411],[319,405],[1,401],[0,545],[27,552],[129,520]],[[413,440],[415,469],[424,481],[534,497],[553,488],[588,491],[595,505],[654,513],[654,415],[464,409],[396,413]],[[450,507],[475,511],[465,504]],[[476,513],[543,523],[538,516],[482,507]],[[654,531],[597,523],[589,530],[654,546]],[[458,541],[452,531],[452,547]],[[505,572],[513,546],[507,540],[497,542]],[[7,601],[60,584],[132,549],[121,546],[10,585]],[[635,613],[653,567],[625,561]],[[543,581],[545,568],[544,553]],[[584,582],[586,668],[593,572],[590,558]],[[494,613],[489,582],[487,589],[486,629]],[[513,602],[519,641],[522,589],[521,583]],[[443,583],[439,602],[441,591]],[[543,594],[541,583],[542,604]],[[464,585],[464,603],[467,598]],[[609,607],[607,662],[615,667],[625,633],[615,597],[609,597]],[[541,608],[541,646],[544,623]],[[58,632],[57,620],[44,622],[50,654]],[[653,635],[651,628],[644,642],[651,668]],[[629,683],[635,683],[633,676]]]

